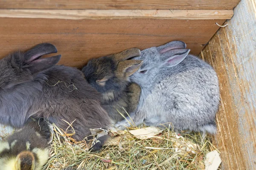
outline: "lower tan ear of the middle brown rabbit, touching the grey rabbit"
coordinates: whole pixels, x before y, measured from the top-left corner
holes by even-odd
[[[126,60],[119,62],[116,69],[116,76],[120,78],[129,77],[134,74],[142,65],[143,60]]]

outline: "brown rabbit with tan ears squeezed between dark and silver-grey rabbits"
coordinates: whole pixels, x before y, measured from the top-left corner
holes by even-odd
[[[91,59],[82,69],[85,79],[102,94],[102,106],[113,123],[134,112],[140,100],[140,86],[129,77],[142,65],[142,60],[127,60],[140,56],[140,50],[130,48],[118,54]],[[125,109],[125,111],[124,111]],[[119,111],[119,112],[118,112]]]

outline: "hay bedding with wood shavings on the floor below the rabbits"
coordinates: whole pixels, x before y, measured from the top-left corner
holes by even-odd
[[[54,127],[51,158],[44,170],[183,170],[204,169],[204,158],[216,148],[200,133],[178,134],[166,128],[149,139],[138,139],[128,130],[113,132],[100,151],[85,142],[71,142]]]

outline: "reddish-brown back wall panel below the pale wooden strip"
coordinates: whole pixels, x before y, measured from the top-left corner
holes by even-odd
[[[0,57],[50,42],[60,64],[81,68],[88,59],[127,48],[140,49],[183,40],[198,55],[224,20],[59,20],[0,18]]]

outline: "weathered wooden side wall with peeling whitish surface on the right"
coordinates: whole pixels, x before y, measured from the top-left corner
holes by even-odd
[[[221,105],[214,138],[222,170],[256,169],[256,1],[242,0],[228,26],[201,53],[218,74]]]

